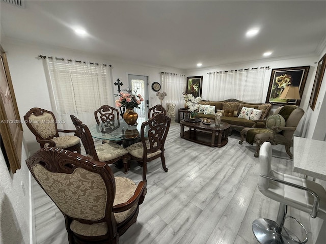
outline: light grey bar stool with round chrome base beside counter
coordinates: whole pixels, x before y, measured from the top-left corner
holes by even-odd
[[[313,163],[313,162],[312,162]],[[266,197],[280,202],[276,221],[256,219],[252,230],[259,243],[297,244],[306,243],[307,231],[295,218],[287,216],[287,206],[310,213],[310,217],[326,220],[326,192],[316,182],[284,174],[271,169],[271,144],[264,142],[259,153],[259,191]],[[306,231],[306,239],[298,240],[283,225],[286,218],[292,218]]]

